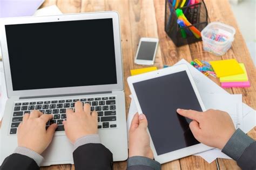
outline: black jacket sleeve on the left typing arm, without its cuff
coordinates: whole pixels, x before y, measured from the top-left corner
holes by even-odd
[[[36,170],[39,166],[36,161],[22,154],[14,153],[5,158],[1,170]]]

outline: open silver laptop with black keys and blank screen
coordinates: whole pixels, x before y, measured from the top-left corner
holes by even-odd
[[[128,157],[125,96],[117,12],[1,20],[8,101],[1,134],[1,164],[17,147],[24,113],[53,114],[57,123],[42,166],[73,164],[62,121],[76,101],[98,112],[98,132],[114,161]]]

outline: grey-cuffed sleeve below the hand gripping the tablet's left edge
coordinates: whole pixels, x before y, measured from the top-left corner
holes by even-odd
[[[160,170],[159,162],[146,157],[131,157],[127,160],[127,170]]]

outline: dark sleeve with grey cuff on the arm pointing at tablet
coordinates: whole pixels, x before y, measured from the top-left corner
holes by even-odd
[[[242,169],[256,169],[256,141],[239,128],[228,140],[222,152],[237,161]]]

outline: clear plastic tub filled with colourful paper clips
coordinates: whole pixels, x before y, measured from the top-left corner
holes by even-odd
[[[216,56],[222,56],[230,49],[234,35],[235,29],[232,26],[212,22],[201,31],[203,48]]]

